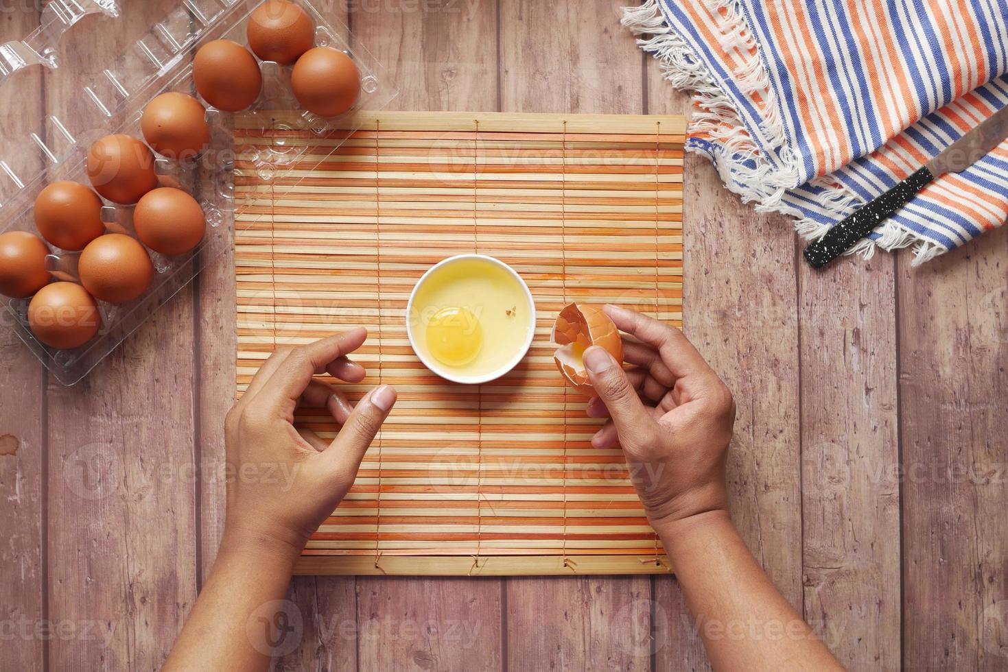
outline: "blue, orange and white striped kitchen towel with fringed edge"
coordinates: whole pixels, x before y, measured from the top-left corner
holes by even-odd
[[[1008,0],[646,0],[623,24],[694,94],[687,148],[806,238],[1008,104]],[[1008,142],[854,248],[914,265],[1008,218]]]

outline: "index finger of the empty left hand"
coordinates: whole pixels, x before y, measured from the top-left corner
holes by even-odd
[[[330,363],[354,352],[364,344],[368,330],[363,326],[343,333],[298,346],[276,368],[276,372],[257,395],[256,403],[266,408],[280,409],[296,402],[311,381],[311,377],[326,371]]]

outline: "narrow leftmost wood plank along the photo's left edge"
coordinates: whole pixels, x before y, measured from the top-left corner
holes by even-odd
[[[37,9],[4,12],[0,42],[21,39],[38,25]],[[16,88],[17,95],[14,95]],[[0,159],[24,178],[42,168],[30,133],[41,132],[42,74],[39,68],[16,73],[0,88]],[[22,171],[23,169],[26,169]],[[6,189],[8,183],[3,184]],[[6,200],[6,198],[4,198]],[[14,206],[10,207],[11,209]],[[9,211],[4,217],[10,215]],[[6,297],[0,297],[6,302]],[[45,641],[35,635],[47,618],[45,594],[46,436],[44,370],[11,327],[2,308],[0,324],[0,621],[5,627],[3,666],[41,670]],[[13,636],[11,636],[13,635]]]

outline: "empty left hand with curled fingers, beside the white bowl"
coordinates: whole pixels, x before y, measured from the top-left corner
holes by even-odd
[[[228,412],[229,547],[272,547],[296,555],[350,490],[396,393],[381,385],[351,408],[338,389],[312,376],[328,372],[359,383],[364,367],[347,355],[365,339],[367,329],[359,326],[305,346],[278,349]],[[311,430],[294,428],[294,410],[302,405],[326,408],[343,425],[331,443]],[[267,472],[269,479],[246,476]]]

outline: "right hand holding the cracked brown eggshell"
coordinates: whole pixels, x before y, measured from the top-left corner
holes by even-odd
[[[605,311],[632,337],[624,337],[623,352],[634,366],[624,371],[602,348],[585,351],[598,395],[588,414],[611,418],[592,444],[623,448],[652,525],[727,511],[732,393],[677,328],[615,305]]]

